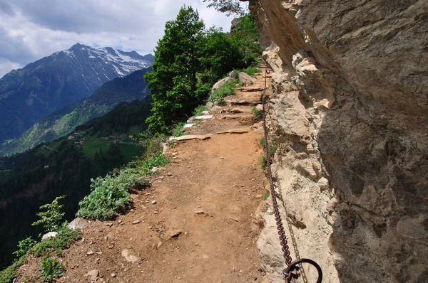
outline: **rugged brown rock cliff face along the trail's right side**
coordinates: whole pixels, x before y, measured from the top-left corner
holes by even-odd
[[[428,2],[251,0],[250,10],[274,70],[273,169],[295,250],[322,265],[324,282],[425,282]],[[272,217],[258,245],[282,282]]]

